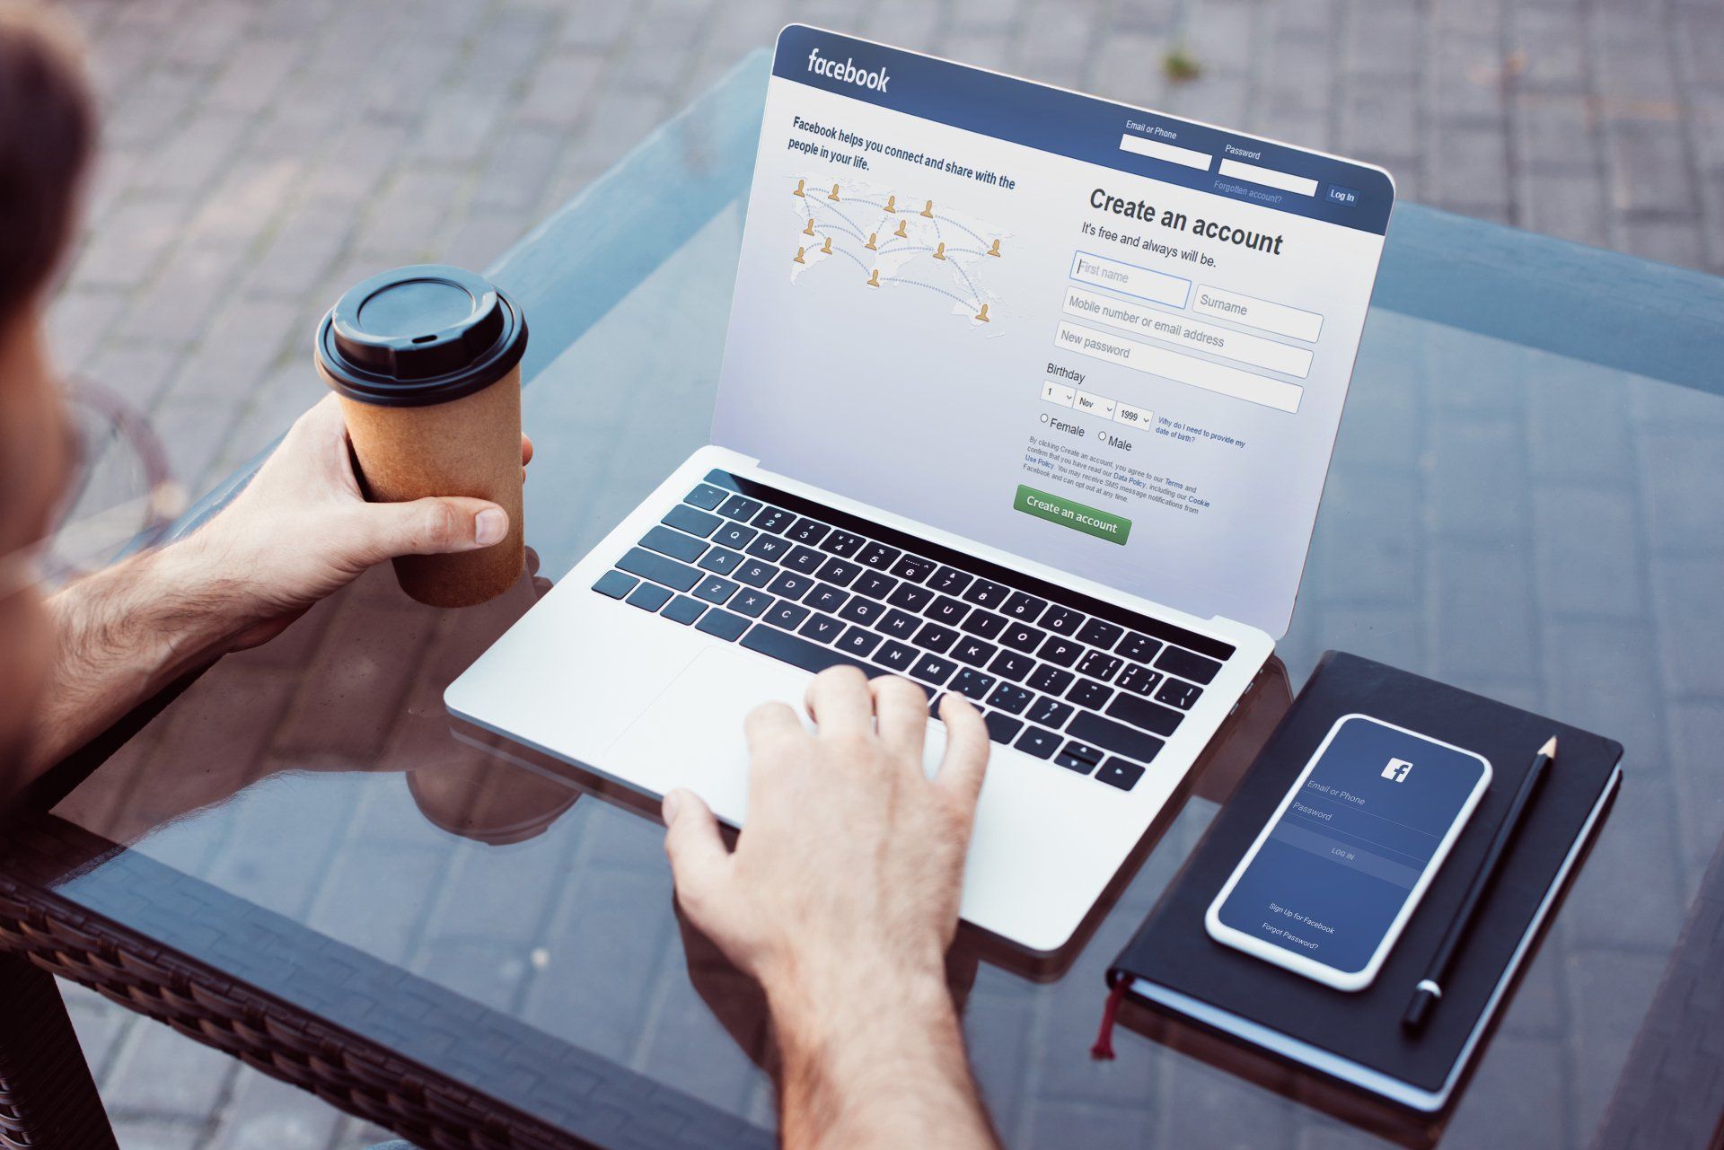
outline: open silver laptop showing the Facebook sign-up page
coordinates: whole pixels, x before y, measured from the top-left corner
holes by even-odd
[[[786,28],[712,441],[448,709],[741,826],[757,703],[840,664],[960,693],[962,916],[1057,952],[1286,633],[1393,195]]]

